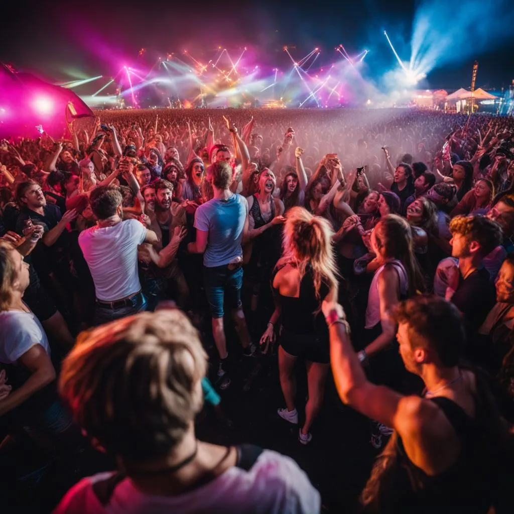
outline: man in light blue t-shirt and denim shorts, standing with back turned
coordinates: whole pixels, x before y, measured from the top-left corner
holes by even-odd
[[[212,166],[214,198],[196,209],[196,241],[189,243],[191,253],[204,254],[205,289],[211,309],[212,333],[219,352],[218,376],[225,376],[222,388],[230,384],[228,352],[223,327],[224,299],[232,309],[235,328],[244,348],[251,356],[251,343],[241,302],[243,285],[242,241],[248,233],[248,204],[244,196],[230,191],[233,171],[227,162]]]

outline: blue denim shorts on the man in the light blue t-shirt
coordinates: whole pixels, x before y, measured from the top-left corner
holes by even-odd
[[[243,268],[228,269],[228,264],[208,268],[204,266],[205,291],[213,318],[223,318],[223,302],[231,309],[241,307]]]

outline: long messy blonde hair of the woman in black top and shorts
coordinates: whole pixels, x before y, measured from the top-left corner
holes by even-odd
[[[294,262],[303,278],[309,264],[313,269],[314,288],[320,298],[322,282],[337,287],[337,266],[332,247],[334,231],[321,216],[313,216],[303,207],[291,207],[286,213],[283,256]]]

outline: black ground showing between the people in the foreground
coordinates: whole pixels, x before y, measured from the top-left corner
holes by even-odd
[[[252,331],[255,343],[264,331],[272,308],[271,298],[264,297],[259,320],[248,320],[251,326],[256,327]],[[249,309],[245,308],[245,312],[248,313]],[[276,350],[272,356],[242,357],[241,346],[229,320],[226,331],[232,360],[232,383],[220,393],[222,408],[233,426],[224,426],[212,408],[206,406],[198,417],[198,437],[220,445],[252,443],[288,455],[320,491],[326,512],[353,510],[378,452],[370,444],[369,420],[343,406],[329,374],[324,406],[311,429],[313,439],[308,445],[301,445],[298,427],[290,425],[277,414],[277,409],[284,407],[285,403],[280,389]],[[206,320],[205,333],[210,334],[210,319]],[[209,376],[216,385],[216,350],[210,335],[204,336],[204,340],[213,362]],[[297,376],[297,408],[301,426],[307,394],[305,367],[301,361],[297,365]],[[43,467],[47,461],[28,441],[19,442],[10,455],[6,458],[3,453],[0,461],[0,472],[4,475],[3,479],[0,478],[2,514],[49,512],[80,478],[113,468],[111,460],[91,450],[87,444],[79,454],[66,454],[48,467]],[[13,480],[14,476],[24,476],[24,479]]]

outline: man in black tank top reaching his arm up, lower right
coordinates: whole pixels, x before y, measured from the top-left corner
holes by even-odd
[[[341,400],[395,430],[362,493],[362,510],[485,514],[495,506],[500,507],[495,512],[512,511],[506,489],[512,480],[508,425],[487,379],[459,360],[466,337],[457,308],[418,295],[392,313],[401,358],[423,379],[423,397],[369,382],[344,310],[332,301],[323,302],[322,309]]]

